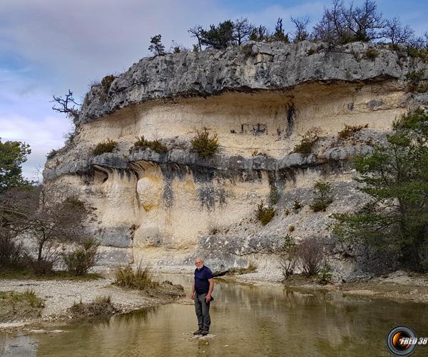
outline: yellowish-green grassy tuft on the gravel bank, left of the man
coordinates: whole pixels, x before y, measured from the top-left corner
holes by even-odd
[[[147,265],[143,268],[141,263],[138,265],[136,271],[133,271],[131,265],[118,266],[115,271],[115,278],[114,283],[124,288],[145,290],[146,288],[156,288],[159,286],[150,266]]]

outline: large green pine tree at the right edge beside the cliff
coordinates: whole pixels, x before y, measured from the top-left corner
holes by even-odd
[[[333,215],[332,231],[345,241],[394,251],[405,268],[428,269],[428,113],[394,123],[387,144],[355,161],[370,201],[357,213]]]

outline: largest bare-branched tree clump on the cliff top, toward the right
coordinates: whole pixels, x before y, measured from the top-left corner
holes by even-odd
[[[374,0],[365,0],[360,7],[352,3],[345,6],[341,0],[333,0],[331,9],[325,8],[322,19],[315,25],[313,36],[332,44],[367,42],[381,39],[384,26],[385,21]]]

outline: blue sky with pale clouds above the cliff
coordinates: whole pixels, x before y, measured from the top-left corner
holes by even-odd
[[[346,2],[346,1],[345,1]],[[1,0],[0,1],[0,138],[24,141],[31,154],[24,176],[35,179],[46,154],[63,146],[73,129],[52,111],[52,95],[71,89],[82,101],[93,81],[120,74],[150,56],[151,36],[162,34],[191,47],[188,29],[225,19],[248,17],[270,30],[282,17],[309,16],[310,29],[331,1],[275,0]],[[355,4],[361,4],[356,0]],[[398,16],[417,35],[427,31],[428,1],[377,0],[384,17]]]

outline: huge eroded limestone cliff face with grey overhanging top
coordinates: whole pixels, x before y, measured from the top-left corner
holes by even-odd
[[[248,42],[142,59],[91,89],[73,144],[46,163],[44,178],[96,208],[88,229],[101,238],[107,264],[192,266],[203,255],[214,269],[255,261],[278,270],[275,252],[291,233],[325,239],[345,278],[387,271],[393,261],[341,246],[326,230],[330,213],[365,202],[350,161],[384,141],[394,119],[428,103],[406,90],[406,74],[423,62],[382,45],[367,59],[369,46]],[[341,139],[345,124],[367,127]],[[201,159],[190,140],[204,127],[218,134],[220,149]],[[293,153],[313,128],[321,138],[312,152]],[[132,149],[136,136],[159,139],[168,153]],[[93,156],[106,139],[117,148]],[[317,181],[334,188],[326,212],[309,208]],[[272,187],[276,214],[262,226],[255,208]]]

